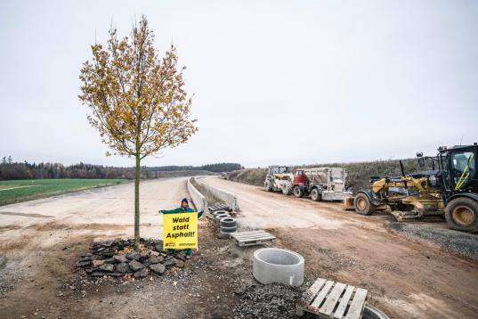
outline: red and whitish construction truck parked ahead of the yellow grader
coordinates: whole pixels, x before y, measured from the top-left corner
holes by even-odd
[[[345,168],[297,168],[294,175],[294,196],[311,196],[314,201],[344,200],[352,192],[345,191]]]

